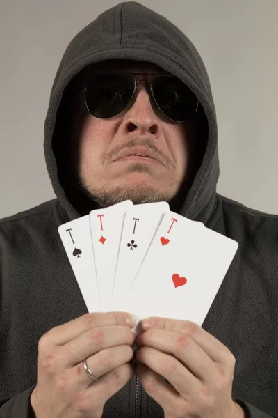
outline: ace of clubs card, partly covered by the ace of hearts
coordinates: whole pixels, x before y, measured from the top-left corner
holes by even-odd
[[[167,202],[157,202],[134,205],[126,212],[110,311],[124,308],[126,292],[129,292],[131,283],[147,254],[163,215],[169,210]]]

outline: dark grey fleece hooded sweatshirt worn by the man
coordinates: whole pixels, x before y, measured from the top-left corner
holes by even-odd
[[[63,156],[69,120],[58,129],[59,109],[73,77],[107,59],[154,63],[181,79],[199,100],[199,167],[179,213],[239,245],[202,327],[236,358],[234,401],[251,418],[278,417],[278,217],[216,192],[218,127],[204,63],[174,24],[134,1],[117,4],[88,24],[60,62],[44,125],[56,199],[0,221],[0,417],[32,416],[40,337],[88,312],[57,231],[86,214],[85,197],[72,187]],[[163,410],[135,375],[107,401],[103,417],[158,418]]]

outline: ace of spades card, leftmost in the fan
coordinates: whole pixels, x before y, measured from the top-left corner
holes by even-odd
[[[89,312],[99,312],[99,291],[95,271],[94,253],[89,215],[58,227],[58,233],[70,260]]]

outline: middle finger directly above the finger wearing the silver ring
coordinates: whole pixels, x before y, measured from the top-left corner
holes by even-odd
[[[94,327],[76,337],[65,346],[65,366],[75,366],[104,348],[133,346],[135,334],[124,325]]]

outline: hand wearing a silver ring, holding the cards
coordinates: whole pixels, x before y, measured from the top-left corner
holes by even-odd
[[[123,312],[95,313],[44,334],[38,344],[38,384],[31,394],[35,417],[100,418],[108,398],[135,374],[129,364],[134,325]]]

